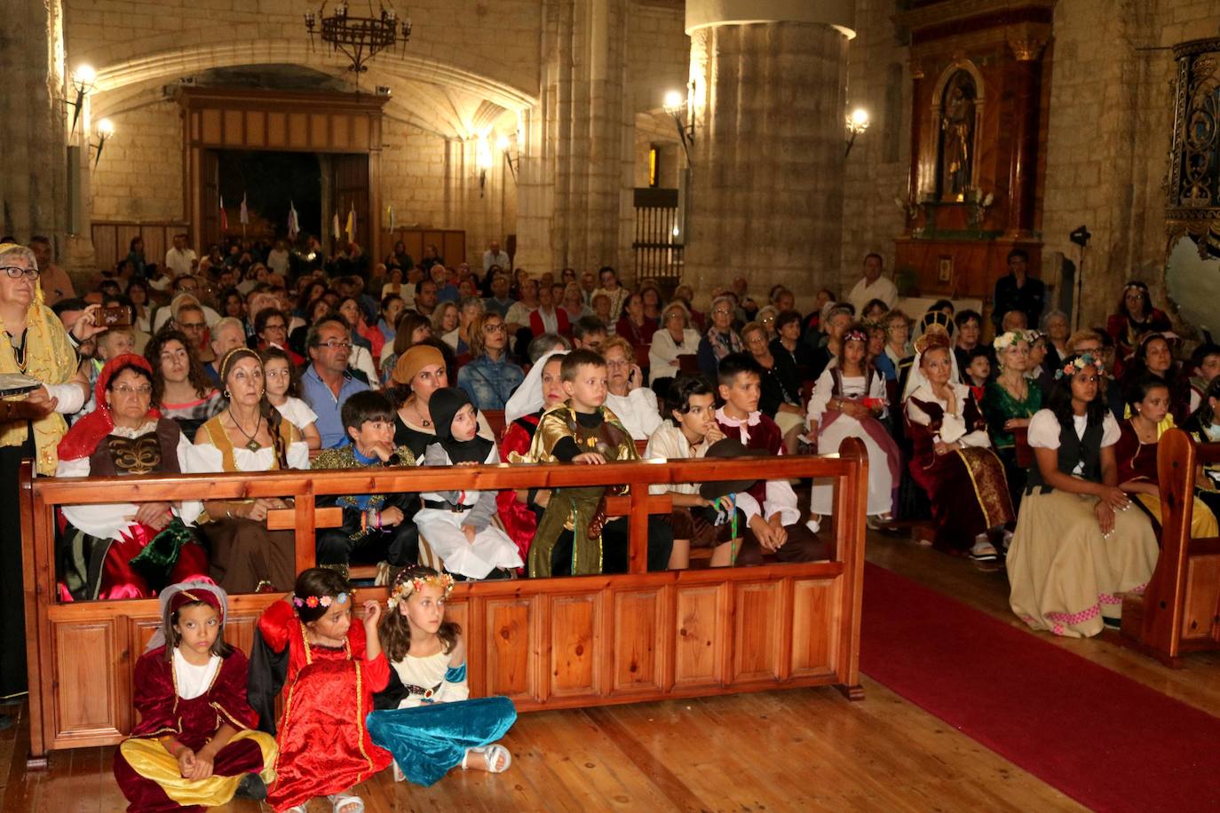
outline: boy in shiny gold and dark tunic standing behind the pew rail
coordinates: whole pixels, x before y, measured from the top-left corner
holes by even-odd
[[[592,350],[573,350],[559,374],[567,401],[543,413],[526,460],[593,466],[639,460],[631,434],[604,406],[605,360]],[[605,492],[600,485],[550,492],[529,547],[531,577],[627,572],[627,520],[606,520]],[[648,569],[664,570],[673,542],[669,523],[649,517],[648,538]]]

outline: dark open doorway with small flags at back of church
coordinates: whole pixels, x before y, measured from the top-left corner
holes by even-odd
[[[322,166],[316,154],[217,150],[216,163],[227,234],[242,234],[243,195],[249,208],[248,236],[288,236],[289,206],[296,207],[303,233],[323,234]]]

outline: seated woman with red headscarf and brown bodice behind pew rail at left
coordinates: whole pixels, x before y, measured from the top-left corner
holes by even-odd
[[[56,477],[177,474],[190,447],[152,406],[152,367],[117,356],[101,368],[98,408],[60,441]],[[76,600],[146,598],[207,575],[207,555],[167,502],[65,506],[60,580]]]

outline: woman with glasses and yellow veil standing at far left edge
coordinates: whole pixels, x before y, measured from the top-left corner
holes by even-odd
[[[37,389],[18,400],[0,401],[0,697],[26,689],[26,602],[22,585],[21,502],[17,473],[33,458],[39,474],[55,474],[56,447],[67,423],[88,399],[77,369],[73,341],[100,333],[87,308],[72,325],[72,338],[43,305],[34,252],[0,244],[0,373],[23,374]],[[0,718],[7,719],[7,718]]]

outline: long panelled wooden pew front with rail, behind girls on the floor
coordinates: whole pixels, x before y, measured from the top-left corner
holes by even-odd
[[[29,658],[29,764],[49,750],[120,742],[133,723],[132,676],[159,623],[157,602],[56,601],[54,509],[156,500],[295,497],[278,524],[296,534],[298,567],[314,564],[314,528],[333,524],[315,497],[337,494],[628,485],[630,573],[461,583],[449,617],[467,641],[472,696],[505,695],[520,711],[833,685],[859,679],[867,457],[855,439],[838,456],[780,457],[769,478],[834,478],[828,561],[648,573],[651,483],[759,475],[759,461],[643,461],[606,466],[481,466],[259,474],[21,480]],[[333,513],[333,512],[332,512]],[[383,598],[384,588],[360,590]],[[229,597],[228,640],[249,651],[254,624],[279,595]]]

